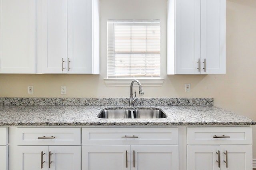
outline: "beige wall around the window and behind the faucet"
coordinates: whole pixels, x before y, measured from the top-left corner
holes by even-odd
[[[0,97],[128,98],[128,86],[107,87],[103,81],[106,78],[106,19],[117,19],[107,8],[110,3],[122,2],[120,5],[127,7],[129,5],[125,3],[145,5],[144,1],[153,3],[148,8],[166,8],[165,0],[101,0],[100,75],[0,74]],[[154,4],[154,1],[158,3]],[[143,87],[143,97],[212,97],[215,106],[256,120],[256,0],[227,0],[226,14],[226,74],[166,76],[166,23],[163,22],[166,21],[166,10],[155,13],[153,19],[161,19],[161,75],[165,81],[161,87]],[[140,17],[145,19],[143,15]],[[191,83],[192,92],[184,92],[184,83]],[[28,85],[34,86],[34,94],[27,94]],[[67,86],[67,95],[60,95],[60,86]],[[256,128],[254,134],[256,141]]]

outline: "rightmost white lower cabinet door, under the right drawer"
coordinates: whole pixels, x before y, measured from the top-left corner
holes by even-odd
[[[252,145],[221,145],[220,150],[221,170],[252,170]],[[227,164],[224,152],[228,153]]]

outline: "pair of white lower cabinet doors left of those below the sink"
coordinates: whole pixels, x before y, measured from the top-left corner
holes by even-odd
[[[79,170],[80,146],[19,146],[19,170]]]

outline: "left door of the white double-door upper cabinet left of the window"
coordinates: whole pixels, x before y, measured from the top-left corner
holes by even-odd
[[[67,73],[67,0],[38,0],[37,27],[42,73]]]

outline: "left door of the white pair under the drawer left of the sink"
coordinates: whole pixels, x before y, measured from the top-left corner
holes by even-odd
[[[16,147],[15,170],[48,170],[48,147]]]

